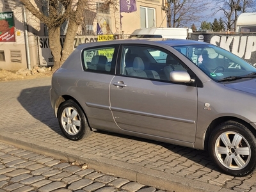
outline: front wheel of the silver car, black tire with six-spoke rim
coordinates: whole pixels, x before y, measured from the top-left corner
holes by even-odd
[[[228,175],[241,177],[253,172],[256,139],[243,124],[227,121],[218,125],[209,138],[209,156]]]

